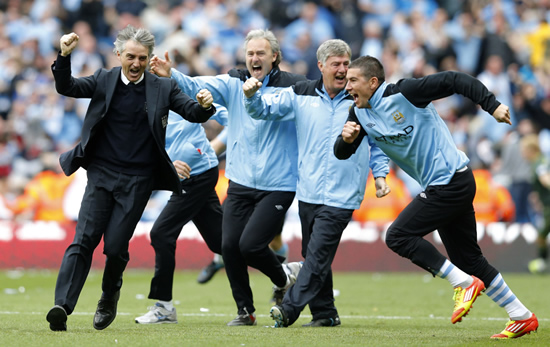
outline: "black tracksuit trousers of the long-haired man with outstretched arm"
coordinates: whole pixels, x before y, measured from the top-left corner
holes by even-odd
[[[295,192],[264,191],[229,182],[223,210],[222,256],[238,314],[253,313],[248,266],[283,286],[286,274],[269,243],[280,230]]]

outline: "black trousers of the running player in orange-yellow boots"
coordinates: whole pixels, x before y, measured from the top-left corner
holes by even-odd
[[[446,258],[424,236],[437,229],[450,261],[488,286],[498,271],[487,262],[477,243],[475,192],[471,169],[457,172],[447,185],[429,186],[388,228],[386,244],[435,275]]]

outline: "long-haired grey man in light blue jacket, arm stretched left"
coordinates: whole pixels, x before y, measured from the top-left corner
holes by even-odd
[[[299,263],[282,265],[268,247],[296,194],[296,129],[291,122],[250,118],[242,102],[242,85],[254,77],[263,81],[264,93],[274,93],[305,77],[279,69],[281,49],[270,31],[252,30],[244,48],[247,69],[218,76],[189,77],[170,69],[167,53],[166,60],[151,60],[153,72],[171,76],[184,92],[208,86],[214,102],[229,113],[225,175],[230,182],[224,202],[222,256],[238,309],[230,326],[256,325],[248,266],[260,270],[280,290],[295,281],[300,268]]]

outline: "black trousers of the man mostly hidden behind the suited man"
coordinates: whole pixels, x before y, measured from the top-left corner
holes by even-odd
[[[222,208],[216,194],[218,167],[183,181],[183,195],[173,194],[151,229],[155,275],[149,299],[172,300],[176,241],[185,224],[193,221],[212,252],[222,250]]]

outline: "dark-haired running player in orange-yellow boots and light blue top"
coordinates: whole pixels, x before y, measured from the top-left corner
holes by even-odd
[[[492,338],[517,338],[536,331],[536,316],[481,252],[473,207],[476,185],[467,166],[469,159],[456,147],[432,101],[458,93],[498,122],[510,124],[508,106],[497,101],[479,80],[454,71],[386,83],[382,64],[370,56],[350,64],[346,90],[356,107],[350,110],[334,144],[336,156],[350,157],[366,137],[424,189],[388,228],[388,247],[451,283],[455,288],[453,324],[462,321],[486,291],[510,316],[506,328]],[[424,239],[436,229],[450,260]]]

